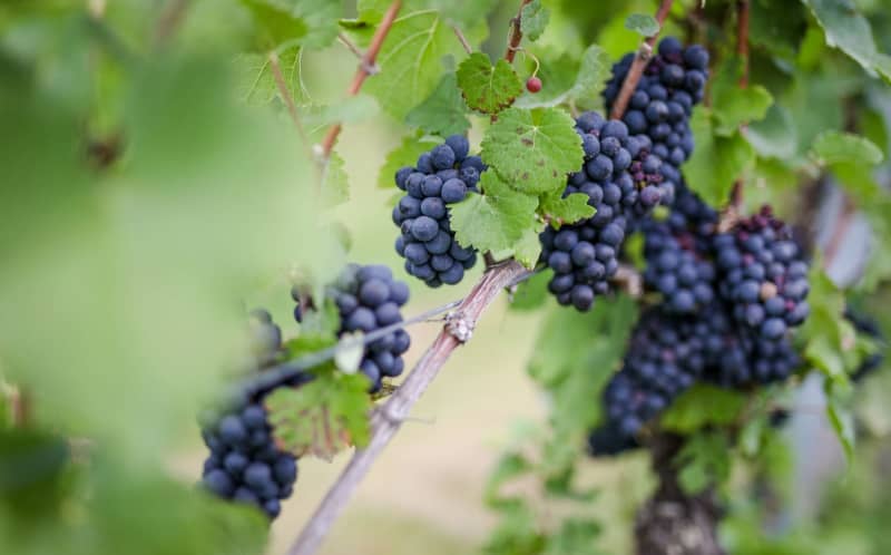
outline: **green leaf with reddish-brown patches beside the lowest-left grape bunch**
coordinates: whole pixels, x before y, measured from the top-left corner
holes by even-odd
[[[298,388],[278,388],[265,399],[276,445],[297,457],[325,460],[347,445],[363,447],[371,428],[369,379],[325,371]]]

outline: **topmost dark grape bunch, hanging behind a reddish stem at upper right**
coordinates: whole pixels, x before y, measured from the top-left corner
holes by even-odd
[[[635,53],[627,53],[613,66],[604,89],[607,109],[611,109],[634,58]],[[676,38],[666,37],[647,62],[623,116],[631,134],[649,137],[653,154],[667,163],[662,173],[674,183],[693,153],[689,117],[693,106],[703,99],[707,79],[708,51],[699,45],[684,48]]]

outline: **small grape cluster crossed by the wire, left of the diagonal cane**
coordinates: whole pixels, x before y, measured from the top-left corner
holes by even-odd
[[[371,333],[402,321],[400,308],[409,300],[409,286],[394,280],[386,266],[350,264],[329,288],[327,295],[340,313],[339,334]],[[402,373],[402,354],[410,344],[408,332],[398,329],[365,347],[359,369],[371,380],[372,393],[381,389],[383,378]]]

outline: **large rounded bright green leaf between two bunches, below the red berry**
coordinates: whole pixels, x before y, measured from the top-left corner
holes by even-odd
[[[561,110],[508,108],[487,130],[482,159],[517,191],[542,194],[562,189],[581,167],[581,139]]]

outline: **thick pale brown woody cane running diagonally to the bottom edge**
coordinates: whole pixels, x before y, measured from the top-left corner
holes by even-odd
[[[506,288],[530,272],[510,260],[489,269],[458,305],[454,315],[421,357],[400,388],[371,417],[371,440],[353,454],[341,476],[291,545],[287,555],[312,555],[345,508],[353,491],[371,469],[384,447],[399,431],[411,408],[420,399],[451,353],[462,344],[453,330],[457,323],[472,330],[483,311]]]

